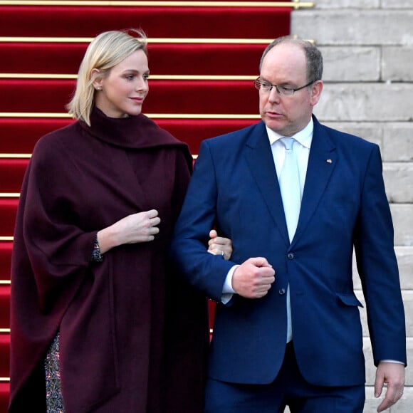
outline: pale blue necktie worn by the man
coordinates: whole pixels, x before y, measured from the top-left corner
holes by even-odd
[[[286,147],[286,157],[280,174],[281,197],[283,198],[284,214],[288,229],[290,242],[293,240],[300,215],[301,192],[300,176],[298,174],[298,164],[296,154],[293,150],[295,139],[293,137],[281,137],[281,142]],[[291,305],[290,305],[290,285],[287,288],[287,343],[293,338],[291,329]]]

